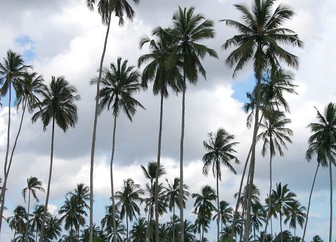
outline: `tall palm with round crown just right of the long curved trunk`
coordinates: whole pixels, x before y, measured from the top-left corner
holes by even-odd
[[[114,120],[112,133],[112,155],[110,162],[111,176],[111,198],[112,198],[112,214],[115,216],[115,201],[113,188],[113,158],[115,148],[115,130],[116,121],[120,112],[124,112],[128,119],[132,121],[136,113],[136,107],[144,108],[139,101],[134,98],[134,94],[140,91],[139,83],[140,74],[134,70],[134,66],[128,66],[128,60],[121,61],[121,57],[117,58],[116,64],[111,63],[110,69],[105,68],[102,76],[102,87],[99,92],[99,114],[104,109],[110,111]],[[93,82],[96,82],[94,80]],[[115,218],[112,220],[113,231],[115,232]],[[114,235],[116,237],[116,235]]]

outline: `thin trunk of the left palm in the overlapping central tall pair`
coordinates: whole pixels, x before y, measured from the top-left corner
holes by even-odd
[[[159,126],[159,138],[157,145],[157,165],[156,165],[156,175],[155,175],[155,241],[159,242],[159,210],[158,210],[158,181],[159,181],[159,171],[160,171],[160,157],[161,157],[161,136],[162,136],[162,110],[163,109],[163,93],[161,92],[161,102],[160,102],[160,126]]]

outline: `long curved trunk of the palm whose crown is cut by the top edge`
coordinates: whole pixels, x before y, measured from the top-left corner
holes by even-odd
[[[89,235],[89,242],[92,242],[92,236],[93,236],[93,165],[94,165],[95,146],[96,146],[98,105],[99,105],[99,93],[100,93],[99,85],[100,85],[100,80],[102,78],[103,61],[104,61],[106,45],[107,45],[108,37],[109,37],[110,24],[111,24],[111,12],[110,12],[108,28],[107,28],[106,36],[105,36],[103,54],[102,54],[102,58],[100,60],[100,66],[99,66],[99,75],[98,75],[98,80],[97,80],[97,91],[96,91],[95,117],[94,117],[94,121],[93,121],[91,161],[90,161],[90,235]]]

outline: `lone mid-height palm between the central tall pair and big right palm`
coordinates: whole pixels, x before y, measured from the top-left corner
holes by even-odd
[[[208,133],[209,140],[203,141],[203,145],[207,153],[203,156],[203,174],[208,175],[209,169],[212,167],[212,172],[216,178],[217,192],[217,211],[220,210],[219,200],[219,181],[222,181],[221,165],[226,166],[231,172],[237,174],[230,161],[234,160],[236,164],[240,161],[233,155],[236,153],[234,146],[238,142],[232,142],[234,135],[229,134],[224,128],[219,128],[216,133]],[[217,216],[217,241],[220,240],[220,216]]]

